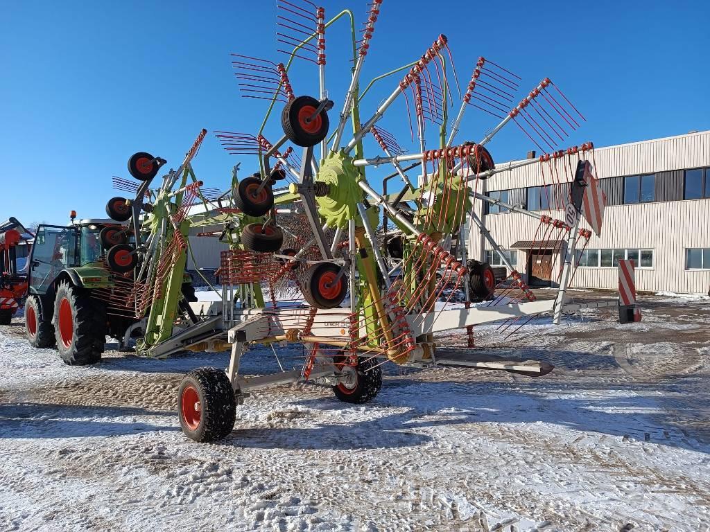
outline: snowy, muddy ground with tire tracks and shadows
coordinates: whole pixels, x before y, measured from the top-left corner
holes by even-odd
[[[613,317],[476,328],[488,353],[556,365],[537,379],[388,367],[364,406],[257,392],[212,445],[180,432],[176,390],[226,354],[68,367],[16,319],[0,327],[0,530],[709,530],[710,304]],[[277,369],[271,350],[244,360]]]

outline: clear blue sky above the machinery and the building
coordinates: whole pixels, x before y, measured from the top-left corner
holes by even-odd
[[[295,1],[295,0],[294,0]],[[327,18],[364,2],[327,1]],[[444,6],[444,9],[437,9]],[[464,7],[465,6],[465,7]],[[200,128],[255,131],[265,102],[239,97],[230,52],[283,60],[275,52],[275,1],[22,1],[0,17],[0,218],[65,223],[104,217],[111,176],[148,151],[179,165]],[[342,106],[349,74],[346,26],[327,33],[329,96]],[[586,123],[565,145],[597,146],[710,129],[710,2],[444,2],[384,0],[363,84],[415,60],[439,33],[459,78],[488,57],[523,77],[525,93],[550,77]],[[297,65],[297,94],[315,94],[316,71]],[[363,114],[395,87],[376,86]],[[523,94],[518,95],[518,99]],[[332,113],[332,120],[336,113]],[[469,110],[459,140],[478,139],[496,119]],[[383,121],[415,150],[403,101]],[[278,138],[278,121],[267,136]],[[532,147],[515,126],[488,146],[498,161]],[[378,155],[366,146],[368,155]],[[194,162],[207,186],[224,188],[231,167],[256,161],[225,153],[210,134]],[[382,168],[368,174],[388,172]]]

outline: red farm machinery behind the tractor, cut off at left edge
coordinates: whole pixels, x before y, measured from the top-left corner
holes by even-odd
[[[17,246],[25,233],[17,218],[0,223],[0,325],[11,323],[27,295],[27,273],[17,267]]]

